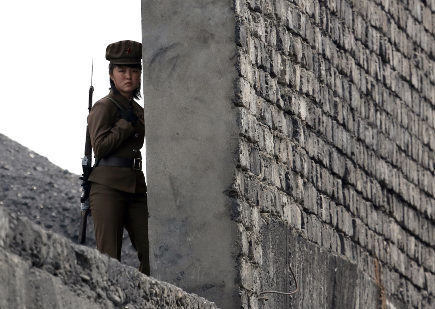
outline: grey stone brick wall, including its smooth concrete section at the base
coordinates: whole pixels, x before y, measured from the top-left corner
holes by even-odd
[[[245,308],[433,307],[435,1],[234,11]]]

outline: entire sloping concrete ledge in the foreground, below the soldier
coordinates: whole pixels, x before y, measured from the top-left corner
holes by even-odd
[[[0,207],[0,308],[216,308]]]

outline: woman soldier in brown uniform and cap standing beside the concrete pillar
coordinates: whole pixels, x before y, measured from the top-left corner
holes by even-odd
[[[110,92],[88,116],[96,157],[89,176],[95,238],[102,253],[120,260],[125,227],[138,252],[139,270],[149,275],[147,194],[139,151],[145,137],[144,109],[134,101],[140,97],[142,44],[109,44],[106,59]]]

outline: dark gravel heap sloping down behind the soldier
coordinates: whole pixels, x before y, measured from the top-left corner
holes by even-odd
[[[77,243],[80,184],[79,175],[0,134],[0,205],[11,213],[26,216]],[[92,217],[88,219],[86,245],[95,248]],[[121,261],[134,267],[139,264],[126,231]]]

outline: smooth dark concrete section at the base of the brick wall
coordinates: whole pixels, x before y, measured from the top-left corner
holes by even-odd
[[[260,290],[298,292],[266,294],[260,308],[375,308],[380,290],[376,282],[345,257],[314,245],[301,233],[276,218],[266,218],[261,227],[262,271]],[[273,249],[270,249],[273,248]]]

